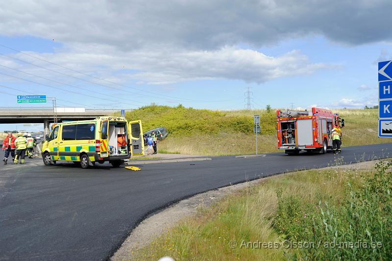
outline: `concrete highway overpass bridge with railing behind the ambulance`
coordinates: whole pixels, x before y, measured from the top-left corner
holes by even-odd
[[[125,111],[132,111],[126,109]],[[115,108],[73,108],[73,107],[0,107],[0,124],[43,123],[44,134],[49,133],[49,123],[54,117],[58,122],[95,119],[98,116],[110,116],[119,112]]]

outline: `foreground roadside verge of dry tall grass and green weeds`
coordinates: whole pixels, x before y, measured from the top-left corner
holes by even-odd
[[[184,219],[135,260],[391,260],[391,165],[270,178]]]

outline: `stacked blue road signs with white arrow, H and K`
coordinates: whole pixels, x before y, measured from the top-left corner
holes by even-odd
[[[392,138],[392,61],[378,63],[378,137]]]

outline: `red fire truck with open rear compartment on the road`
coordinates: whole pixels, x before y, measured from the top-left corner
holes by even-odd
[[[342,136],[344,119],[338,113],[313,107],[312,110],[277,110],[276,130],[278,149],[289,155],[308,152],[327,152],[332,148],[331,130]]]

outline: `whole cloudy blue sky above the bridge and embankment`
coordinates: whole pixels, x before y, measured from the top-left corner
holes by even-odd
[[[36,94],[64,107],[233,110],[247,87],[255,109],[373,106],[377,62],[392,58],[390,10],[388,0],[14,0],[0,9],[1,106]]]

